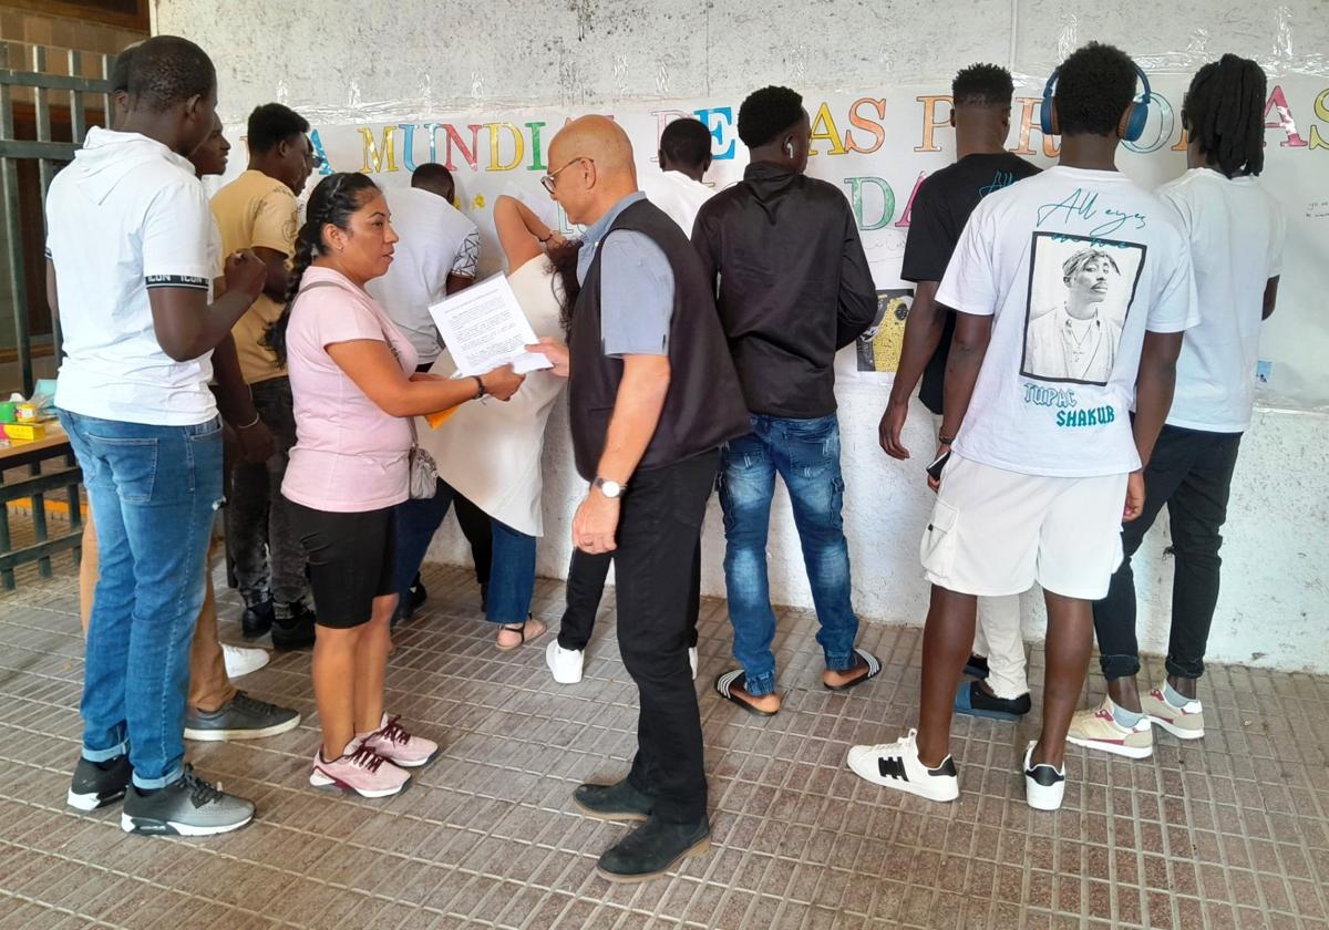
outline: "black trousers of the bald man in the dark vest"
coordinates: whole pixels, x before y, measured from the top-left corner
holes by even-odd
[[[706,817],[702,717],[687,663],[692,565],[718,452],[638,472],[623,496],[614,550],[618,650],[637,683],[637,757],[629,783],[655,798],[653,816]]]

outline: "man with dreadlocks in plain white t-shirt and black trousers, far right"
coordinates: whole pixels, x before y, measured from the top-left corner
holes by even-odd
[[[1224,54],[1199,70],[1181,108],[1188,170],[1158,193],[1191,242],[1200,324],[1181,344],[1176,400],[1144,470],[1144,513],[1123,525],[1126,561],[1094,606],[1108,696],[1075,715],[1069,739],[1079,745],[1123,755],[1119,737],[1136,728],[1147,740],[1143,755],[1131,755],[1143,757],[1152,751],[1151,725],[1184,740],[1204,736],[1195,684],[1219,598],[1219,529],[1251,424],[1260,323],[1273,312],[1286,230],[1277,202],[1256,179],[1264,167],[1264,102],[1260,65]],[[1131,554],[1164,504],[1175,558],[1168,676],[1142,695]]]

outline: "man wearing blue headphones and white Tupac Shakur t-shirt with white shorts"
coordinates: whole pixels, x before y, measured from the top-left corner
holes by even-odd
[[[1022,768],[1030,806],[1061,806],[1092,602],[1122,562],[1123,513],[1134,519],[1144,505],[1142,464],[1172,400],[1181,332],[1199,322],[1191,255],[1172,211],[1115,167],[1140,105],[1135,82],[1135,64],[1108,45],[1090,43],[1066,60],[1051,104],[1059,165],[978,205],[937,290],[937,302],[956,310],[956,337],[938,436],[938,458],[950,457],[940,485],[930,477],[938,496],[921,547],[932,606],[918,729],[855,747],[848,759],[878,785],[958,797],[950,717],[975,599],[1038,582],[1049,614],[1043,727]],[[1122,320],[1096,336],[1116,340],[1111,371],[1096,379],[1031,371],[1035,315],[1066,303],[1086,248],[1108,255],[1126,284],[1099,288],[1091,304],[1098,319]]]

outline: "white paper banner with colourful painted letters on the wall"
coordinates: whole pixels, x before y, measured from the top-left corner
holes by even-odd
[[[1185,170],[1180,104],[1189,74],[1151,76],[1154,104],[1139,142],[1123,146],[1119,166],[1146,187]],[[1269,407],[1329,409],[1329,88],[1317,77],[1271,80],[1263,182],[1288,214],[1289,239],[1278,312],[1267,324],[1260,399]],[[1057,140],[1038,129],[1041,88],[1017,89],[1007,146],[1039,165],[1055,161]],[[738,140],[736,100],[625,102],[605,106],[627,132],[638,174],[658,171],[659,133],[679,117],[695,117],[714,134],[707,183],[723,189],[743,177],[747,150]],[[889,381],[910,290],[900,280],[909,211],[918,183],[954,158],[945,88],[896,86],[861,94],[804,100],[812,117],[813,157],[808,173],[839,186],[849,199],[878,287],[878,319],[859,345],[841,355],[844,375]],[[540,186],[550,170],[546,154],[558,129],[581,110],[440,113],[412,122],[360,122],[354,112],[314,126],[324,173],[365,171],[380,185],[407,185],[425,162],[447,165],[457,179],[459,206],[481,229],[481,271],[498,267],[492,205],[500,194],[520,197],[574,232]],[[242,133],[234,133],[237,138]],[[233,158],[235,169],[242,159]],[[233,170],[235,170],[233,169]],[[310,189],[318,178],[312,178]]]

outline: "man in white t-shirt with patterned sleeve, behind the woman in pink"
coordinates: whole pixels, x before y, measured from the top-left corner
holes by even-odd
[[[388,274],[371,280],[365,290],[415,347],[420,356],[419,371],[427,372],[443,353],[429,307],[474,283],[480,230],[452,206],[456,182],[452,173],[436,162],[416,167],[409,187],[388,187],[384,194],[392,213],[392,229],[401,240]],[[493,547],[489,515],[461,496],[455,504],[457,523],[470,543],[480,597],[485,601]],[[397,530],[405,531],[405,523],[399,523]],[[427,597],[424,582],[416,575],[397,604],[396,619],[411,619]]]

